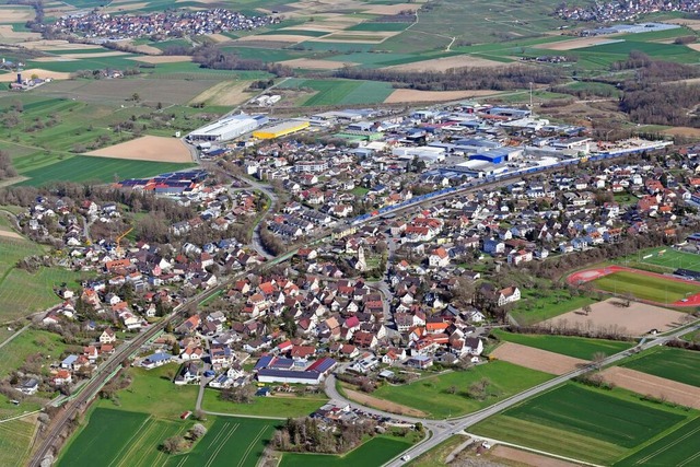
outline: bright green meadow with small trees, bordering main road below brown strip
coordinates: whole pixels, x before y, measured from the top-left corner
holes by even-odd
[[[470,398],[466,394],[469,385],[485,377],[491,382],[488,396],[483,400]],[[406,385],[385,385],[372,396],[412,407],[440,419],[474,412],[551,377],[542,372],[495,361],[468,371],[425,376]],[[450,394],[452,386],[456,388],[455,394]]]

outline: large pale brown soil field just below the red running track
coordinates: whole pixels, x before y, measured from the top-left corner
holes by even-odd
[[[684,323],[685,313],[674,312],[648,303],[632,302],[630,306],[619,306],[620,299],[608,299],[591,305],[586,316],[583,310],[574,310],[556,318],[542,322],[542,326],[580,327],[581,329],[617,329],[628,336],[642,336],[651,329],[665,331]]]

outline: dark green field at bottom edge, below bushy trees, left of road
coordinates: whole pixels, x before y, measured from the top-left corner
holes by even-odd
[[[408,450],[411,444],[398,437],[374,436],[345,456],[328,454],[284,454],[280,467],[380,466]]]

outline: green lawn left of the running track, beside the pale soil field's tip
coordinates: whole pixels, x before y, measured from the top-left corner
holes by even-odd
[[[568,290],[523,290],[523,300],[511,315],[521,326],[533,325],[595,303],[585,295],[572,296]]]

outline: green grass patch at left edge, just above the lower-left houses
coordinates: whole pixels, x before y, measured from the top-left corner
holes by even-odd
[[[38,359],[44,364],[45,371],[48,372],[48,365],[60,361],[65,350],[66,345],[59,335],[45,330],[27,329],[2,348],[0,377],[4,377],[22,366],[31,355],[39,354]]]

